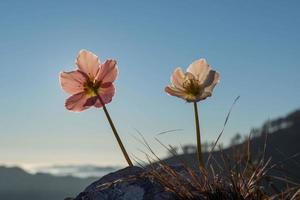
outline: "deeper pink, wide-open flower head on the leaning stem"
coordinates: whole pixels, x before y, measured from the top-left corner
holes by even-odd
[[[116,61],[106,60],[101,64],[95,54],[81,50],[76,65],[77,70],[59,75],[62,89],[72,95],[66,100],[66,108],[80,112],[91,106],[101,108],[102,103],[111,102],[115,94],[113,82],[118,75]]]

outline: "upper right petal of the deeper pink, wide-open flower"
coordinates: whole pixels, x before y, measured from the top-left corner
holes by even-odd
[[[102,83],[114,82],[118,76],[118,67],[115,60],[106,60],[101,65],[96,79]]]

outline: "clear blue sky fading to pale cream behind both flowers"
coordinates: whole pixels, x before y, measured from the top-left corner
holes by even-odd
[[[203,140],[247,134],[300,104],[299,1],[1,1],[0,163],[125,165],[103,110],[64,108],[60,71],[80,49],[119,65],[107,105],[130,154],[144,147],[195,143],[193,107],[164,93],[175,67],[198,58],[221,74],[200,103]]]

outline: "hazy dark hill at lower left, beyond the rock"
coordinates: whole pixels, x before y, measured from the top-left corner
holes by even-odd
[[[97,178],[29,174],[18,167],[0,167],[1,200],[61,200],[76,196]]]

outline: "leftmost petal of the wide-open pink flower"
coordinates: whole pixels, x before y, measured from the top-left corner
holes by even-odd
[[[61,72],[59,82],[62,89],[69,94],[77,94],[84,91],[83,84],[86,77],[79,71]]]

